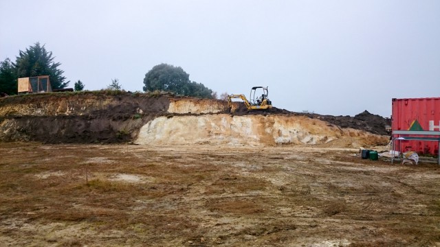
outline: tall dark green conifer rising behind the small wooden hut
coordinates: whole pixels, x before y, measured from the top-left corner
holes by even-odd
[[[64,71],[58,69],[61,63],[54,62],[52,51],[48,52],[45,45],[40,45],[39,42],[20,51],[13,65],[17,78],[49,75],[52,89],[64,89],[69,84],[65,82]]]

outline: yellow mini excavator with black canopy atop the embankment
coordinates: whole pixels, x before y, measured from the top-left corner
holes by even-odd
[[[258,92],[258,93],[257,93]],[[261,93],[261,96],[259,96]],[[267,99],[267,86],[254,86],[250,90],[250,100],[246,99],[245,95],[228,95],[228,108],[232,108],[232,99],[241,99],[250,110],[267,110],[272,108],[272,102],[270,99]]]

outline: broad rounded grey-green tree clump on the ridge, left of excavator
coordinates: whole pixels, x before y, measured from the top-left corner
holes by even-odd
[[[212,90],[201,83],[191,82],[181,67],[158,64],[145,74],[144,91],[169,91],[177,95],[212,99]]]

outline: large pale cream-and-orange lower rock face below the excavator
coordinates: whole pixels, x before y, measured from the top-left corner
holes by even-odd
[[[350,137],[386,142],[386,137],[340,129],[302,116],[226,114],[158,117],[142,126],[135,143],[227,145],[323,144]],[[346,145],[349,145],[346,144]],[[353,147],[358,148],[358,147]]]

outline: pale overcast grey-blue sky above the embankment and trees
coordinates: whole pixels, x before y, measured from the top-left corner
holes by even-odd
[[[0,60],[38,41],[70,87],[142,91],[164,62],[293,111],[389,117],[393,97],[440,97],[437,0],[0,0],[0,22]]]

